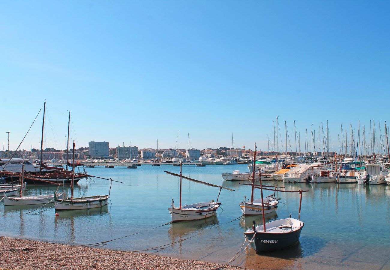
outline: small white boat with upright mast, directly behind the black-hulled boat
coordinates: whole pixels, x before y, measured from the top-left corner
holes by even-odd
[[[256,160],[256,144],[255,144],[255,153],[254,153],[254,162]],[[259,171],[259,179],[261,179],[261,172]],[[262,181],[260,180],[260,183]],[[262,215],[263,213],[268,214],[275,211],[278,208],[279,201],[274,198],[273,195],[267,197],[266,200],[254,199],[254,188],[255,188],[255,172],[252,171],[252,196],[251,199],[246,201],[246,197],[243,202],[239,203],[241,212],[243,215]],[[265,206],[265,208],[264,208]]]

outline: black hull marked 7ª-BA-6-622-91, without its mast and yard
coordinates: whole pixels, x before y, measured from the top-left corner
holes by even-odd
[[[245,232],[245,238],[250,242],[256,253],[262,253],[272,250],[284,249],[296,244],[299,241],[303,225],[296,231],[289,233],[264,233],[257,231]],[[254,235],[255,234],[255,235]]]

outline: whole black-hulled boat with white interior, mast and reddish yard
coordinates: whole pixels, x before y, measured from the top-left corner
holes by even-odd
[[[307,192],[308,190],[299,190],[299,191],[287,191],[287,190],[277,190],[269,189],[262,186],[260,182],[260,187],[256,187],[261,190],[261,201],[262,201],[262,211],[264,212],[264,198],[263,198],[263,189],[272,190],[274,192],[299,192],[301,195],[299,203],[299,214],[298,219],[295,218],[282,218],[274,220],[271,222],[265,222],[265,216],[263,215],[263,224],[256,226],[255,221],[253,221],[252,229],[248,229],[244,236],[246,240],[250,243],[253,249],[256,250],[256,253],[261,253],[265,251],[283,249],[294,245],[299,241],[301,231],[303,228],[303,222],[300,220],[301,216],[301,203],[302,203],[302,193]]]

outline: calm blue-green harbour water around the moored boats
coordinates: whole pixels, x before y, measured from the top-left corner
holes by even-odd
[[[61,211],[55,217],[54,208],[37,215],[25,214],[37,207],[4,206],[0,226],[3,235],[62,243],[96,243],[138,233],[107,243],[106,248],[142,250],[175,243],[156,254],[186,259],[225,263],[244,241],[244,231],[261,216],[239,218],[238,203],[250,197],[251,188],[239,182],[223,181],[222,172],[248,171],[246,165],[183,166],[183,174],[191,178],[233,188],[222,190],[218,216],[197,222],[170,222],[167,210],[171,199],[179,204],[179,178],[163,171],[179,173],[179,167],[143,165],[138,169],[87,168],[89,174],[124,182],[113,183],[111,203],[102,209]],[[271,182],[269,182],[271,183]],[[390,187],[357,184],[280,184],[286,190],[309,190],[302,200],[301,220],[305,227],[300,243],[289,249],[255,254],[251,248],[233,263],[249,268],[371,268],[390,269]],[[57,187],[28,187],[28,194],[53,193]],[[75,195],[108,194],[110,182],[83,179]],[[60,188],[61,190],[62,188]],[[183,204],[216,200],[219,189],[190,183],[183,179]],[[264,195],[271,192],[264,191]],[[298,218],[299,195],[277,194],[282,199],[275,213],[266,220]],[[260,191],[257,190],[256,198]]]

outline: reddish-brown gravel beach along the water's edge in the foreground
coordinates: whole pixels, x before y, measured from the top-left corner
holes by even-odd
[[[215,263],[0,236],[0,269],[199,269]],[[220,269],[244,269],[226,265]]]

